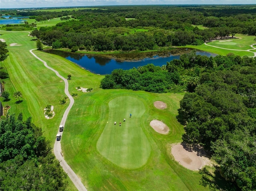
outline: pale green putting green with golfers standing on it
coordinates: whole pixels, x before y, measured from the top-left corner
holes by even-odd
[[[140,126],[141,117],[146,111],[143,102],[133,96],[118,96],[108,106],[109,118],[97,142],[98,151],[120,167],[141,167],[150,155],[150,144]],[[119,122],[122,122],[121,126]]]

